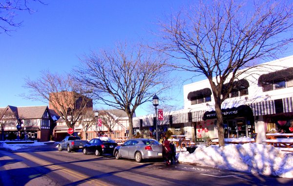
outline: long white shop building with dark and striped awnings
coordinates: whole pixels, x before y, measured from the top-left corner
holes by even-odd
[[[277,59],[253,69],[233,83],[222,104],[225,137],[250,137],[258,133],[261,143],[268,132],[293,129],[293,56]],[[164,113],[159,132],[172,130],[188,138],[218,137],[214,99],[209,81],[185,85],[184,109]],[[223,91],[225,91],[225,86]],[[134,129],[143,134],[155,129],[153,115],[134,118]],[[291,129],[291,130],[290,130]]]

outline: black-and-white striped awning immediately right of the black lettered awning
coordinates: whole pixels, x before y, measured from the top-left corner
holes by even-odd
[[[276,113],[273,100],[251,103],[248,106],[251,107],[254,116]]]

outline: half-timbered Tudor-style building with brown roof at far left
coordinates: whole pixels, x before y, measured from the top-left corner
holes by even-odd
[[[58,115],[47,106],[14,107],[8,105],[0,108],[0,124],[4,139],[28,139],[49,141]],[[17,125],[22,126],[17,130]]]

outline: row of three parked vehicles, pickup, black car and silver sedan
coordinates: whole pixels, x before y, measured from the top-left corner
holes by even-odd
[[[63,149],[67,149],[68,152],[83,149],[84,154],[93,153],[96,156],[111,154],[114,155],[115,159],[135,159],[138,163],[144,159],[162,158],[162,144],[156,140],[145,138],[130,139],[118,146],[111,139],[93,138],[88,142],[79,137],[67,136],[58,145],[59,151]]]

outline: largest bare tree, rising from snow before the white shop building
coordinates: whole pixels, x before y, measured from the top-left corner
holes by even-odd
[[[291,3],[285,1],[213,0],[197,3],[162,23],[159,50],[179,59],[174,67],[205,75],[212,89],[219,145],[224,146],[221,104],[229,96],[239,71],[251,61],[274,57],[293,41]],[[287,34],[287,35],[286,35]],[[181,65],[178,65],[181,64]],[[223,84],[228,89],[223,91]]]

